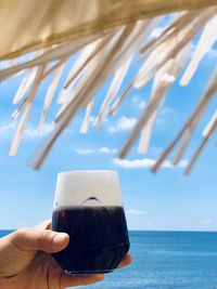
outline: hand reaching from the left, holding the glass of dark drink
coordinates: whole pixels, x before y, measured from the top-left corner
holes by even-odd
[[[50,222],[44,222],[36,228],[18,229],[0,239],[1,289],[63,289],[103,280],[102,274],[66,275],[50,253],[63,250],[69,236],[52,232],[49,227]],[[130,262],[131,258],[127,254],[119,267]]]

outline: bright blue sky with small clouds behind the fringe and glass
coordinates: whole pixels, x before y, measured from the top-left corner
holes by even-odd
[[[107,119],[100,130],[91,127],[87,135],[78,133],[84,117],[84,111],[80,111],[58,140],[42,169],[35,171],[28,167],[27,160],[46,136],[46,134],[37,136],[36,129],[48,81],[39,90],[27,131],[15,157],[8,156],[16,126],[11,121],[10,115],[15,109],[12,100],[21,78],[2,82],[0,84],[0,228],[34,226],[44,219],[50,219],[58,172],[114,169],[119,173],[130,229],[216,231],[216,135],[210,140],[190,176],[183,174],[183,168],[163,168],[156,175],[150,171],[150,163],[176,136],[202,95],[217,61],[215,49],[204,58],[190,86],[181,88],[176,81],[170,89],[157,118],[148,156],[138,155],[137,147],[133,146],[125,162],[119,162],[116,154],[149,100],[151,83],[143,90],[131,91],[118,114]],[[132,64],[120,90],[130,81],[136,68],[137,65]],[[93,118],[99,111],[108,83],[98,93]],[[56,96],[58,94],[55,98]],[[214,100],[200,122],[183,160],[188,161],[194,153],[193,148],[201,141],[201,132],[216,107],[217,102]],[[59,105],[53,102],[46,121],[47,132],[52,128],[52,118],[58,108]]]

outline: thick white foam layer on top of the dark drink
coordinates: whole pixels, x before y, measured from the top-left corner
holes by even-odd
[[[58,175],[54,209],[74,206],[122,206],[116,171],[66,171]]]

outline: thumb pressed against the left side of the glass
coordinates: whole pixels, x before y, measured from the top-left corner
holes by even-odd
[[[50,229],[23,228],[11,234],[11,242],[23,251],[41,250],[54,253],[62,251],[68,245],[69,236],[65,233],[56,233]]]

